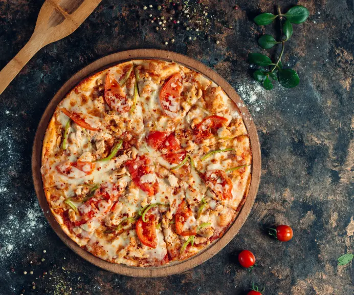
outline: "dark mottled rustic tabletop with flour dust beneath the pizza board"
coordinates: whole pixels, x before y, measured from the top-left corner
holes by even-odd
[[[0,1],[0,68],[30,38],[42,2]],[[76,32],[37,53],[0,96],[0,293],[246,294],[254,281],[266,284],[264,294],[353,294],[354,263],[337,266],[340,255],[354,251],[353,2],[298,2],[311,15],[294,26],[283,65],[298,71],[300,85],[285,90],[277,84],[271,92],[250,79],[246,59],[260,52],[260,33],[274,33],[275,27],[252,22],[260,11],[273,12],[273,2],[190,0],[196,16],[189,31],[185,17],[156,31],[158,20],[151,24],[149,14],[169,16],[157,10],[162,1],[118,3],[102,1]],[[280,4],[285,10],[297,2]],[[203,265],[158,279],[113,275],[76,256],[43,217],[30,171],[37,123],[60,86],[90,62],[135,48],[180,52],[223,75],[253,115],[263,160],[257,200],[239,234]],[[264,233],[279,223],[292,225],[292,241]],[[258,260],[251,273],[237,263],[245,248]]]

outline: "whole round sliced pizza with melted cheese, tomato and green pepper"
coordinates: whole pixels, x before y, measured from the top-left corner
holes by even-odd
[[[252,151],[225,92],[176,62],[132,60],[81,81],[42,146],[51,212],[80,247],[129,266],[182,261],[244,204]]]

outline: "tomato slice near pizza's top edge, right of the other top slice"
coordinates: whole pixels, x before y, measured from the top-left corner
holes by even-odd
[[[182,90],[181,73],[174,74],[162,87],[160,91],[160,103],[165,113],[166,111],[176,113],[180,109],[180,96]]]

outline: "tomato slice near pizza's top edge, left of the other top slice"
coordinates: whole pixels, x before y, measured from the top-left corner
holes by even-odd
[[[106,77],[104,99],[111,109],[118,112],[126,113],[130,110],[127,96],[112,73],[108,73]]]

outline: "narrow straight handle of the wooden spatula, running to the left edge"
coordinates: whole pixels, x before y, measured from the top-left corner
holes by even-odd
[[[23,49],[21,49],[17,55],[10,60],[0,72],[0,94],[8,87],[11,81],[16,77],[19,71],[27,64],[36,52],[41,49],[43,40],[33,34],[31,39],[27,42]]]

